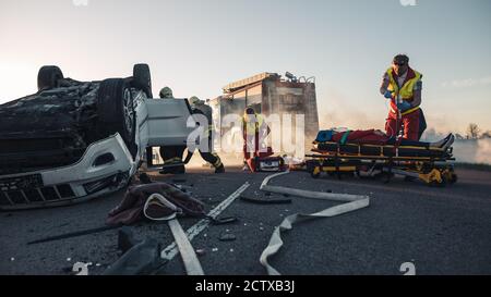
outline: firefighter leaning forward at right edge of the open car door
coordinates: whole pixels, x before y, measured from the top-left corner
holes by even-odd
[[[203,114],[206,116],[207,126],[204,128],[201,139],[207,141],[207,151],[199,150],[201,158],[211,163],[215,168],[215,173],[224,173],[225,166],[221,163],[220,157],[213,151],[213,110],[206,106],[203,100],[193,96],[189,99],[193,114]]]

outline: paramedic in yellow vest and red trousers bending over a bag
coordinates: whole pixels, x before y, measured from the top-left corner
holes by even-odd
[[[242,116],[244,171],[249,170],[248,160],[260,157],[260,150],[266,147],[264,140],[270,132],[263,115],[253,108],[247,108]]]

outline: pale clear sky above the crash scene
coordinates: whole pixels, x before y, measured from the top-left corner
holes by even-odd
[[[215,98],[262,72],[315,76],[321,126],[383,128],[392,58],[423,74],[430,128],[491,129],[489,0],[0,0],[0,103],[41,65],[79,81],[151,65],[154,94]]]

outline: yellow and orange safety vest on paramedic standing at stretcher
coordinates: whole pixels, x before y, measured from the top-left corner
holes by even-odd
[[[394,70],[392,67],[390,67],[387,70],[387,75],[388,75],[388,79],[390,79],[390,84],[387,89],[390,91],[394,92],[394,98],[395,100],[397,100],[397,98],[400,97],[400,99],[406,100],[406,101],[412,101],[415,98],[415,85],[421,79],[422,74],[409,69],[407,76],[406,76],[406,82],[404,82],[403,87],[399,88],[396,77],[395,77],[395,73]],[[395,100],[391,100],[391,111],[393,113],[397,113],[397,104],[395,103]],[[411,112],[415,112],[419,110],[419,106],[418,107],[414,107],[405,112],[402,113],[402,115],[406,115],[409,114]]]

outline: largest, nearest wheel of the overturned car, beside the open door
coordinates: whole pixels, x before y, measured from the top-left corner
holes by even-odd
[[[119,133],[134,157],[137,150],[136,114],[127,81],[109,78],[100,83],[97,92],[97,114],[100,138]]]

